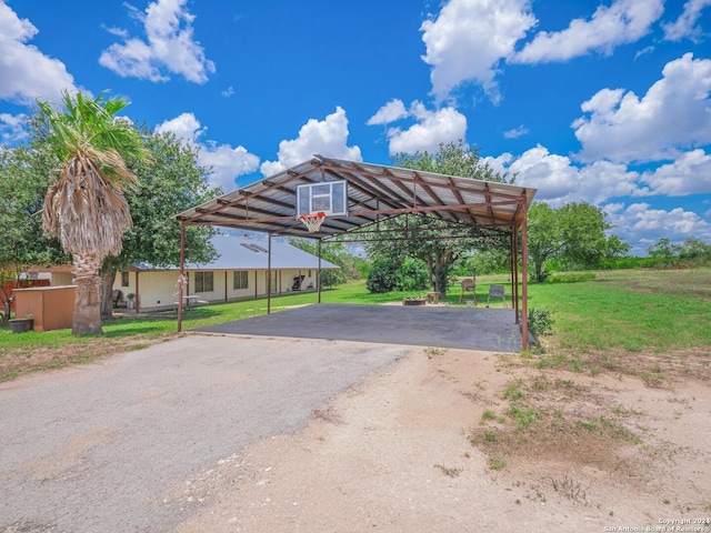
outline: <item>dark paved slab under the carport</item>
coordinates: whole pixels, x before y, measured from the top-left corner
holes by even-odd
[[[521,351],[521,329],[515,323],[514,312],[501,308],[320,303],[198,331],[490,352]]]

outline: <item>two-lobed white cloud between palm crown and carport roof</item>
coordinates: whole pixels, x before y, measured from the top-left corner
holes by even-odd
[[[183,142],[198,147],[198,164],[210,170],[210,184],[220,187],[224,192],[233,191],[237,178],[259,168],[259,157],[249,153],[243,147],[232,148],[214,141],[201,143],[200,138],[206,131],[207,128],[200,125],[193,113],[182,113],[156,127],[157,133],[171,132]]]

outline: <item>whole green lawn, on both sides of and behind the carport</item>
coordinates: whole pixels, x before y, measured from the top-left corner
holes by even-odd
[[[479,276],[479,305],[487,301],[489,284],[508,276]],[[510,294],[507,286],[507,294]],[[453,286],[447,302],[458,304]],[[323,303],[385,303],[419,293],[370,294],[363,282],[326,290]],[[314,292],[276,296],[272,312],[317,302]],[[494,305],[499,305],[498,303]],[[548,309],[555,321],[547,344],[575,352],[624,350],[663,352],[711,350],[711,270],[598,272],[595,279],[573,283],[532,283],[529,308]],[[267,300],[211,304],[190,309],[183,330],[264,314]],[[144,348],[174,338],[176,314],[162,318],[118,319],[104,324],[99,339],[73,338],[69,330],[13,334],[0,326],[0,381],[23,372],[61,368],[98,356]]]

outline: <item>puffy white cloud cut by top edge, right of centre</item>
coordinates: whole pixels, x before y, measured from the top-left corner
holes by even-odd
[[[481,84],[499,100],[497,67],[535,24],[530,0],[450,0],[435,19],[422,23],[432,67],[432,93],[440,100],[467,81]]]

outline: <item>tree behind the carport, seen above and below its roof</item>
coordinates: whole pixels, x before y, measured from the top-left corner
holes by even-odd
[[[437,153],[415,152],[399,153],[393,157],[395,167],[437,172],[440,174],[487,180],[499,183],[512,183],[481,161],[479,149],[472,149],[463,140],[440,144]],[[381,223],[381,229],[393,234],[405,234],[407,241],[382,241],[368,244],[365,248],[371,258],[385,257],[390,261],[404,257],[419,259],[428,266],[429,278],[434,282],[434,290],[447,293],[450,269],[454,262],[472,249],[485,245],[505,245],[495,231],[473,237],[470,229],[451,228],[431,215],[401,215]]]

